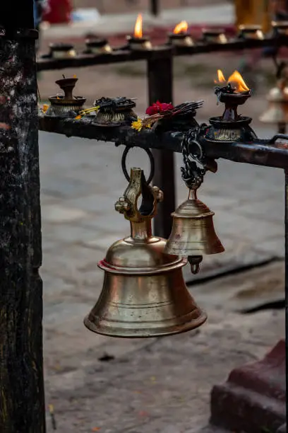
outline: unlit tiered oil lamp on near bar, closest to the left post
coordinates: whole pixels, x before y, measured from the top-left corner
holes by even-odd
[[[55,81],[61,90],[64,91],[64,95],[56,95],[49,98],[51,105],[45,112],[45,116],[70,117],[72,113],[75,115],[81,110],[86,99],[82,96],[73,96],[73,88],[77,81],[76,77],[64,77],[61,80]]]

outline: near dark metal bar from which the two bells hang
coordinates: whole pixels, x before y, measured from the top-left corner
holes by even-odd
[[[138,146],[143,149],[160,149],[181,152],[183,132],[164,132],[156,134],[150,129],[136,132],[129,126],[125,127],[98,127],[91,120],[65,119],[56,117],[39,117],[39,128],[46,132],[56,132],[67,137],[82,137],[85,139],[113,142],[116,146]],[[251,143],[208,142],[200,139],[205,154],[210,158],[224,158],[229,161],[268,166],[275,168],[288,168],[288,144],[271,144],[269,140],[257,139]],[[191,149],[193,151],[193,149]],[[196,148],[197,152],[198,149]]]

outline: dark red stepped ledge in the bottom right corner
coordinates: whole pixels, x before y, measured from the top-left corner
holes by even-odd
[[[285,422],[285,344],[258,362],[232,370],[211,393],[213,425],[235,432],[277,433]]]

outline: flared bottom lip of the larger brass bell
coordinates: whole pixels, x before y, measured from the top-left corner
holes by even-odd
[[[148,338],[148,337],[166,337],[167,335],[185,333],[189,330],[199,328],[207,321],[205,311],[196,307],[190,313],[181,316],[175,324],[175,319],[166,319],[159,321],[128,322],[119,320],[105,321],[103,318],[95,317],[92,313],[84,319],[84,325],[93,333],[108,335],[110,337],[121,338]],[[153,328],[148,328],[153,325]]]

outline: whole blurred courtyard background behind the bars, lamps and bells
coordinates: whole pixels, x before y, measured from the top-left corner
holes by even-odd
[[[203,28],[234,35],[239,24],[260,24],[270,32],[271,19],[287,19],[281,0],[46,0],[37,7],[38,16],[42,11],[38,54],[47,54],[51,42],[71,42],[84,50],[91,34],[122,46],[138,13],[154,45],[166,42],[182,20],[200,37]],[[222,113],[214,94],[217,69],[225,76],[237,69],[253,92],[239,112],[253,117],[259,137],[272,137],[277,126],[261,124],[259,116],[275,86],[273,54],[251,50],[175,57],[174,104],[205,100],[197,120],[208,122]],[[277,55],[285,60],[287,50]],[[59,91],[55,81],[62,74],[78,77],[74,94],[87,98],[87,106],[102,96],[126,96],[137,98],[138,115],[148,107],[145,62],[41,72],[41,103]],[[206,176],[198,196],[215,212],[226,252],[205,258],[197,278],[190,270],[185,276],[191,294],[208,311],[208,325],[199,333],[149,342],[113,339],[90,333],[83,318],[102,288],[97,261],[129,232],[128,221],[114,211],[127,185],[123,150],[40,132],[47,403],[54,405],[61,432],[193,433],[193,425],[209,418],[212,385],[224,381],[235,365],[263,356],[283,335],[284,173],[218,161],[218,173]],[[181,155],[175,160],[179,205],[187,192]],[[144,152],[133,149],[128,166],[148,171]],[[215,279],[205,280],[211,271]]]

